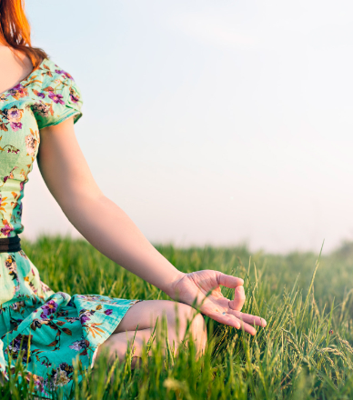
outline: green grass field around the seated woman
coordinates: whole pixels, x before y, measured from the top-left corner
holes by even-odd
[[[55,291],[163,299],[156,287],[109,261],[85,241],[42,237],[23,245],[42,280]],[[243,311],[262,315],[256,337],[207,319],[207,354],[195,361],[191,345],[176,359],[161,350],[108,368],[101,358],[72,399],[351,399],[353,398],[353,245],[330,255],[250,254],[246,247],[157,246],[184,272],[217,269],[244,278]],[[319,249],[318,249],[319,253]],[[315,274],[316,271],[316,274]],[[313,277],[315,275],[315,279]],[[224,295],[231,294],[225,290]],[[107,375],[114,375],[110,384]],[[1,387],[1,386],[0,386]],[[1,399],[25,399],[14,380]],[[62,398],[57,392],[57,398]]]

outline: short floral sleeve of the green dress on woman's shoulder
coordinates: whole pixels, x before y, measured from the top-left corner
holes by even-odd
[[[74,116],[74,124],[81,118],[82,96],[72,77],[59,85],[49,83],[40,92],[35,92],[37,101],[32,110],[39,129],[58,125],[70,116]]]

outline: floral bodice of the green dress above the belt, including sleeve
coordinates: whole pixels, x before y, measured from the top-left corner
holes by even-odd
[[[76,123],[82,116],[81,106],[72,75],[47,58],[0,95],[0,237],[23,232],[23,191],[38,152],[39,130],[70,116]]]

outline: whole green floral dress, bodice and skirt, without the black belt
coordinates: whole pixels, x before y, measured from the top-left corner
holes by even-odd
[[[22,199],[40,144],[40,129],[82,116],[74,78],[45,58],[0,95],[0,238],[21,234]],[[138,300],[54,293],[23,250],[0,253],[0,371],[22,362],[42,396],[73,384],[74,360],[87,369]],[[20,351],[25,350],[25,352]],[[10,365],[8,365],[10,363]]]

